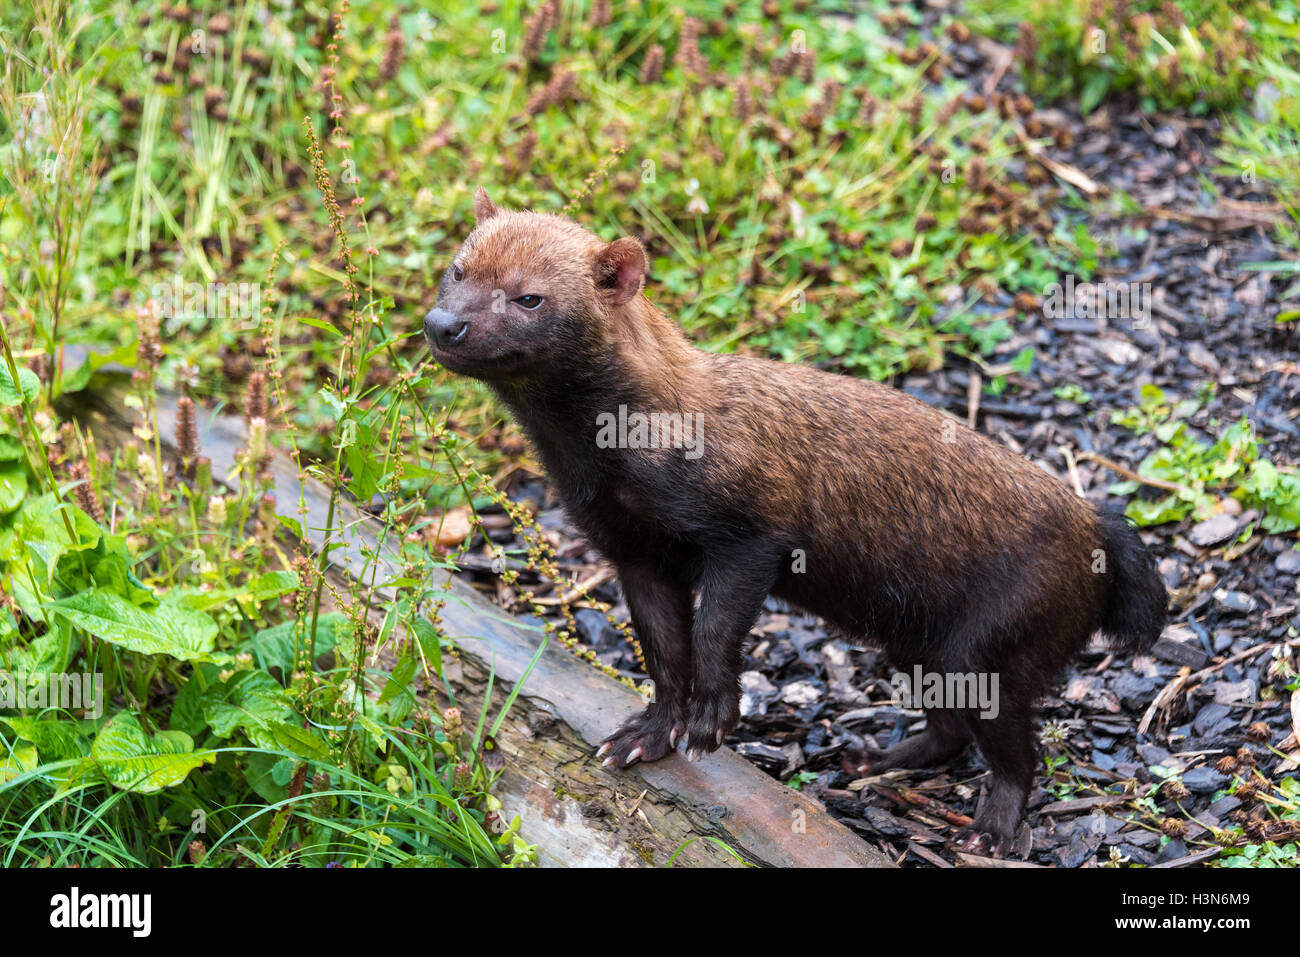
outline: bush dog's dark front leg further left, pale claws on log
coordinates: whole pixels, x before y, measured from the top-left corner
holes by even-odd
[[[690,585],[647,564],[620,564],[619,583],[632,612],[654,701],[614,732],[597,757],[627,767],[658,761],[686,733],[690,701]],[[606,757],[607,755],[607,757]]]

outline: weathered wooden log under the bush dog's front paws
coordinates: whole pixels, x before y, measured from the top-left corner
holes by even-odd
[[[96,434],[101,447],[124,442],[131,423],[122,398],[121,376],[99,374],[82,393],[73,413]],[[159,395],[160,429],[176,432],[176,397]],[[203,452],[213,475],[235,465],[246,445],[244,424],[233,416],[199,415]],[[322,547],[330,490],[307,478],[299,484],[296,465],[273,454],[277,502],[281,507],[307,502],[304,534]],[[385,581],[400,576],[398,542],[381,540],[380,524],[351,502],[335,505],[334,541],[346,545],[330,553],[335,570],[354,579],[378,562]],[[391,598],[376,589],[380,598]],[[382,602],[377,614],[382,615]],[[489,685],[491,714],[524,676],[543,635],[489,605],[468,585],[452,580],[443,627],[459,654],[445,661],[458,703],[477,707]],[[746,861],[800,867],[892,867],[892,861],[835,820],[805,794],[781,785],[729,749],[697,763],[672,754],[629,770],[606,768],[594,752],[606,735],[644,706],[640,696],[578,661],[556,644],[524,680],[497,735],[506,770],[494,793],[508,814],[523,817],[523,836],[538,846],[538,859],[551,866],[662,866],[680,850],[684,866],[741,866],[711,840],[724,841]]]

